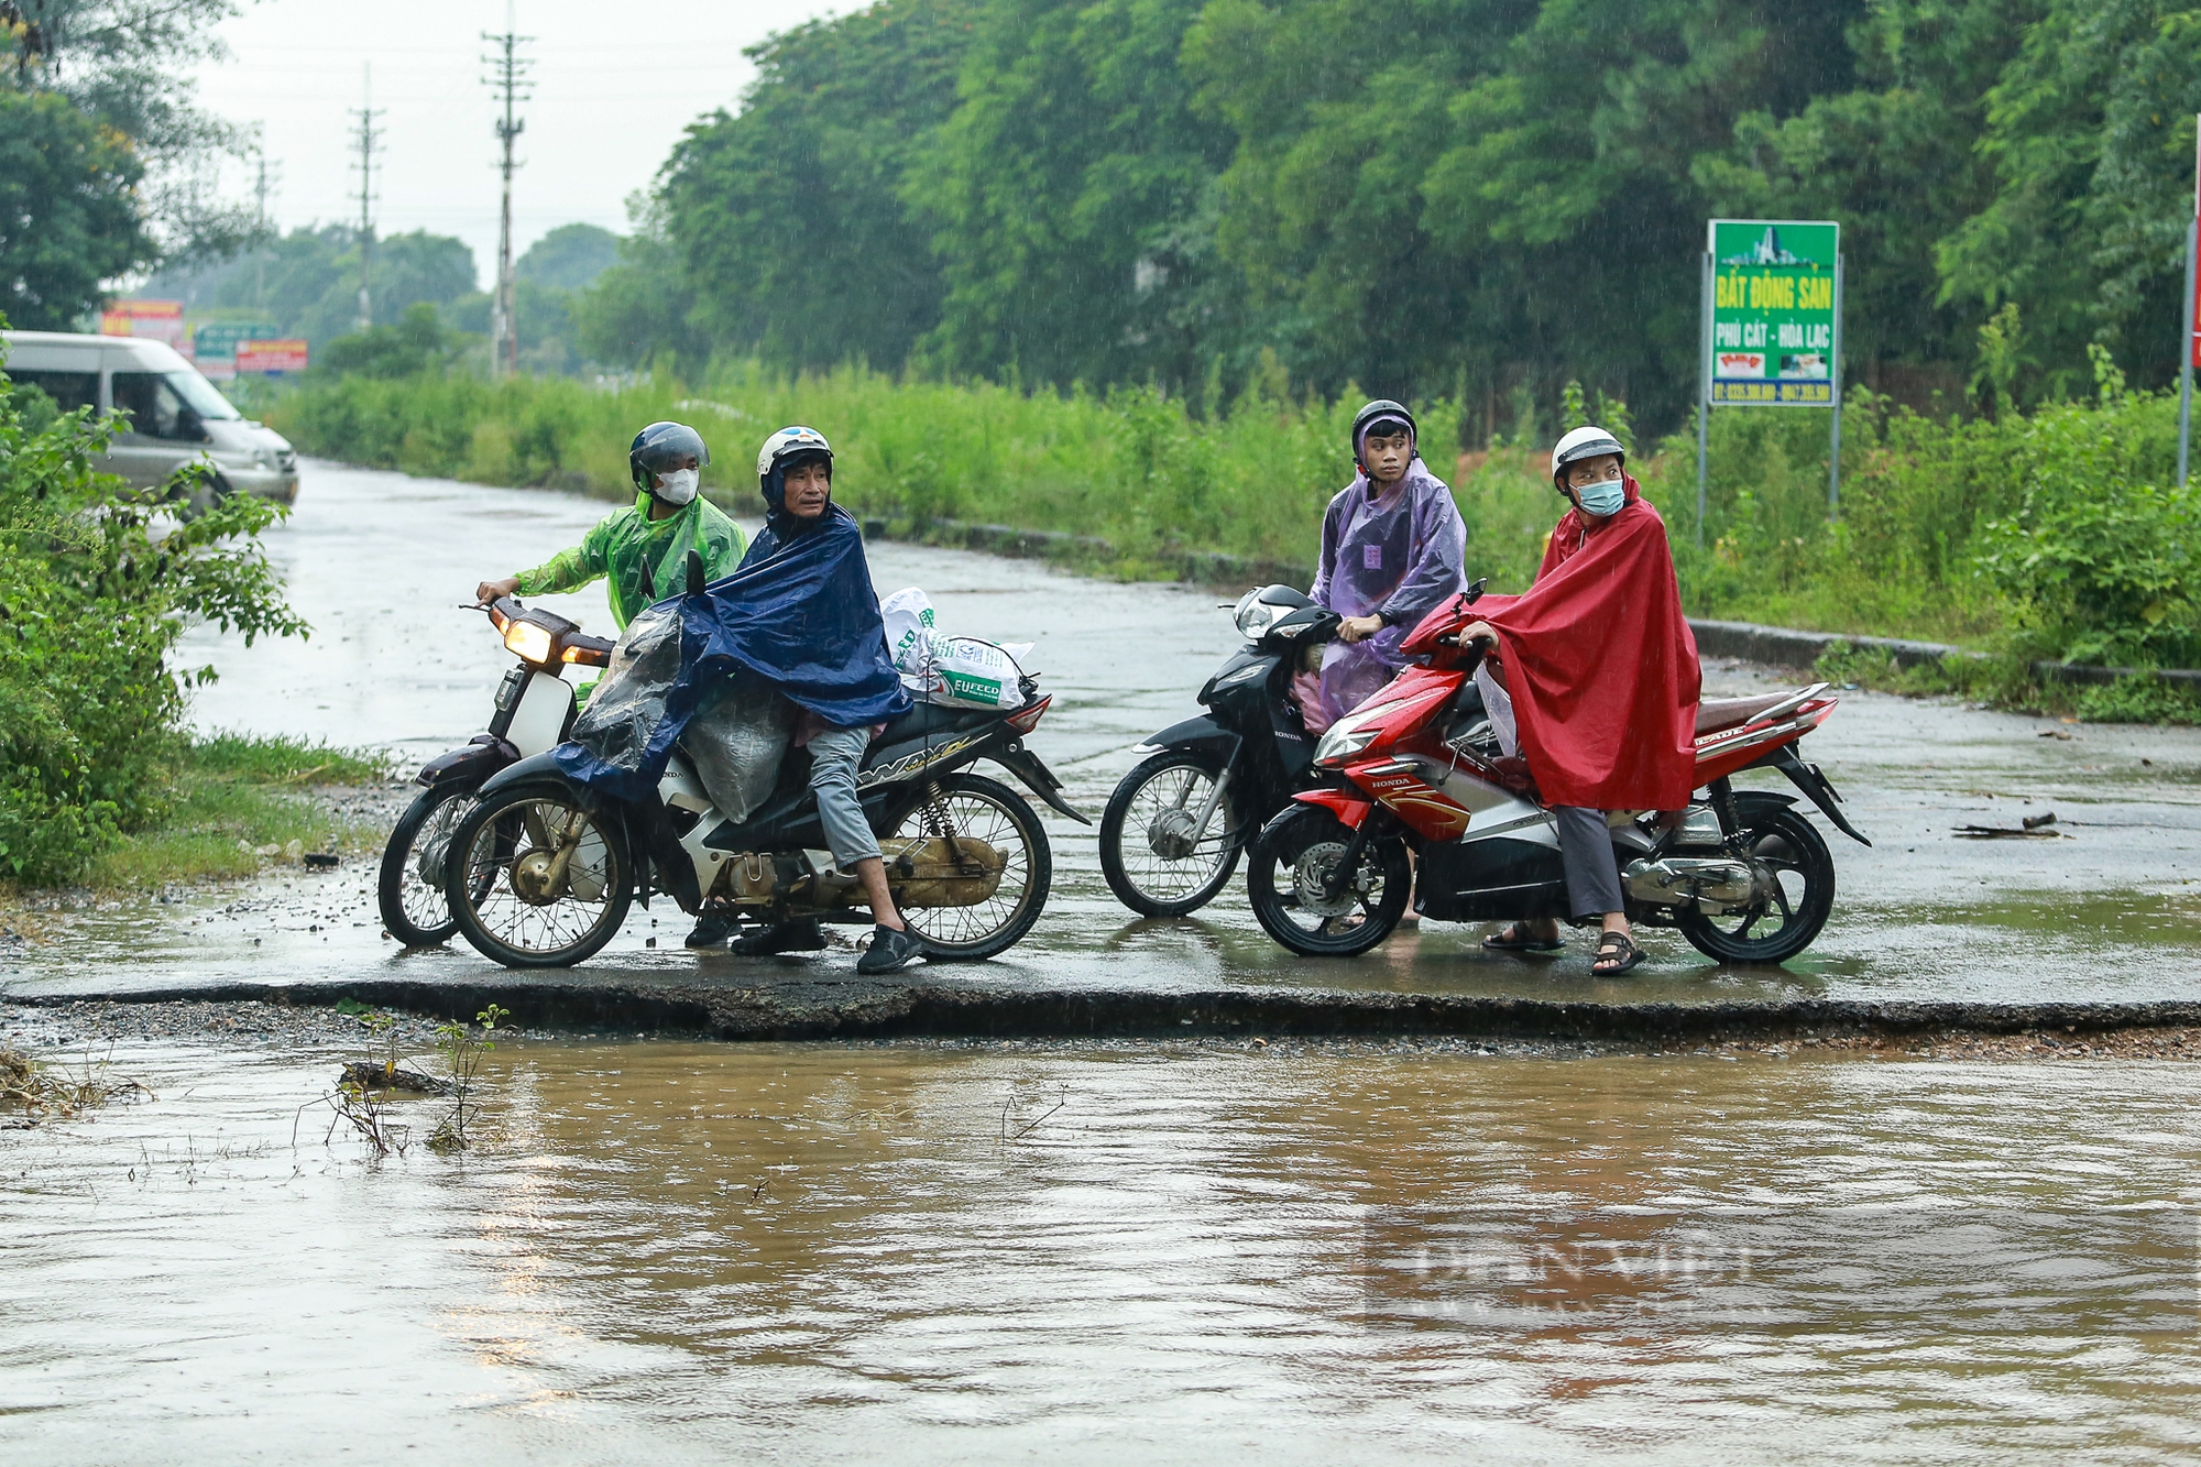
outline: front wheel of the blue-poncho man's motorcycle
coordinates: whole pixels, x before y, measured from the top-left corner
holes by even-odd
[[[555,890],[524,890],[546,879],[544,868],[568,844]],[[627,921],[634,870],[618,830],[579,808],[566,786],[519,784],[475,802],[458,822],[442,890],[458,930],[484,958],[572,967]]]

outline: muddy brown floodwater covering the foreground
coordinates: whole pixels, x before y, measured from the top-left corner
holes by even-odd
[[[0,1134],[15,1460],[2201,1449],[2197,1066],[524,1042],[368,1161],[114,1064]]]

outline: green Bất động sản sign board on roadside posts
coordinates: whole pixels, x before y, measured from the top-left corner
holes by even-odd
[[[1842,227],[1710,220],[1715,408],[1831,408]]]

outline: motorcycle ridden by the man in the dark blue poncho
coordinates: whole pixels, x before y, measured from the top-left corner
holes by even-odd
[[[689,553],[689,595],[704,588]],[[676,601],[640,612],[621,637],[592,707],[663,711],[680,665]],[[1054,874],[1048,833],[1012,786],[973,773],[993,760],[1039,800],[1092,824],[1061,780],[1023,747],[1052,698],[1021,678],[1015,709],[920,703],[872,740],[856,797],[878,835],[887,888],[931,960],[1006,952],[1039,921]],[[770,795],[740,824],[720,815],[689,758],[674,749],[638,802],[570,780],[555,749],[491,775],[458,819],[445,899],[467,941],[506,967],[570,967],[594,956],[634,901],[667,894],[691,914],[766,923],[814,916],[863,923],[854,872],[828,852],[808,780],[810,756],[788,749]]]

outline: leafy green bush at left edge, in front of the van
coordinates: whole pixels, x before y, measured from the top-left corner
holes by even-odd
[[[189,621],[247,639],[306,630],[258,544],[284,511],[229,496],[178,522],[196,474],[145,491],[95,474],[106,434],[90,410],[26,419],[0,359],[4,881],[73,879],[158,815],[183,749],[167,654]]]

